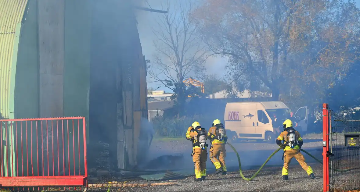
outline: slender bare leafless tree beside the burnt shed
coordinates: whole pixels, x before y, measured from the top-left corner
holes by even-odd
[[[171,1],[174,2],[174,1]],[[153,28],[156,36],[154,47],[157,54],[152,60],[148,74],[152,82],[160,82],[174,91],[173,99],[183,111],[188,89],[183,83],[187,78],[201,77],[204,72],[204,46],[196,34],[196,25],[191,13],[193,0],[179,0],[177,4],[162,5],[168,13],[160,15],[157,26]]]

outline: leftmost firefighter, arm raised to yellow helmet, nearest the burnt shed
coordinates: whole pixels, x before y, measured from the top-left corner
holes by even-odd
[[[206,130],[201,127],[199,122],[194,122],[186,132],[186,139],[193,143],[193,157],[195,166],[195,181],[205,180],[206,178],[206,161],[207,161],[207,134]]]

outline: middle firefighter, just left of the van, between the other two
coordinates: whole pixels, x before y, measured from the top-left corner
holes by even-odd
[[[224,125],[219,119],[215,119],[213,121],[212,127],[210,127],[207,136],[211,141],[210,160],[212,164],[215,165],[215,174],[222,172],[223,175],[226,175],[225,143],[228,140],[228,136],[226,136]]]

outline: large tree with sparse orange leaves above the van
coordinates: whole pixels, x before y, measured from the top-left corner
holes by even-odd
[[[229,58],[236,86],[273,100],[319,97],[357,59],[353,1],[204,0],[193,15],[213,54]]]

